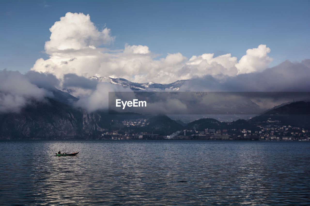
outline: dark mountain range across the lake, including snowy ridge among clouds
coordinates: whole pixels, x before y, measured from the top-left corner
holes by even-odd
[[[153,84],[131,84],[125,79],[109,78],[113,84],[128,84],[128,87],[146,88]],[[173,83],[174,84],[174,83]],[[181,84],[181,81],[174,85]],[[130,86],[129,86],[130,85]],[[172,84],[161,84],[163,87],[172,87]],[[159,85],[153,88],[159,88]],[[176,87],[175,87],[176,88]],[[170,135],[183,129],[203,131],[205,128],[223,129],[227,127],[247,128],[255,122],[266,122],[268,118],[280,120],[292,126],[310,128],[310,103],[293,102],[278,108],[270,109],[266,113],[254,117],[249,121],[237,120],[232,123],[219,122],[212,118],[203,118],[188,124],[177,122],[165,115],[139,115],[139,114],[113,114],[108,111],[96,111],[87,113],[80,108],[72,107],[72,101],[76,97],[60,91],[51,90],[53,98],[47,98],[45,102],[33,101],[24,107],[20,113],[0,114],[0,139],[29,139],[29,138],[61,138],[72,137],[75,139],[96,138],[104,131],[119,129],[111,123],[112,120],[149,118],[149,124],[145,127],[132,127],[131,132],[155,132],[162,135]]]

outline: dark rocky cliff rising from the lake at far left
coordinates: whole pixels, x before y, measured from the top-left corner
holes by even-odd
[[[87,114],[54,99],[33,102],[18,114],[0,115],[0,139],[84,139],[105,131],[109,120],[104,114]]]

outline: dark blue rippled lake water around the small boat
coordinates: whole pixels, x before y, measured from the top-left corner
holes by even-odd
[[[0,150],[1,204],[310,204],[310,142],[1,141]]]

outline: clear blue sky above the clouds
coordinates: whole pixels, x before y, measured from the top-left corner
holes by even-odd
[[[116,36],[111,49],[147,45],[156,54],[231,53],[266,44],[274,59],[310,58],[309,1],[1,1],[0,69],[28,71],[47,59],[49,28],[66,12],[91,16]]]

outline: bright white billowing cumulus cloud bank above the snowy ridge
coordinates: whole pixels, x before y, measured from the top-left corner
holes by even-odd
[[[236,76],[262,71],[272,58],[266,45],[248,49],[240,61],[231,54],[193,56],[189,60],[181,53],[156,59],[146,45],[126,44],[121,51],[98,47],[112,43],[110,29],[98,30],[89,15],[68,12],[50,28],[50,41],[45,44],[49,59],[38,59],[32,70],[49,72],[58,78],[74,73],[84,77],[121,77],[133,82],[171,83],[204,75]]]

